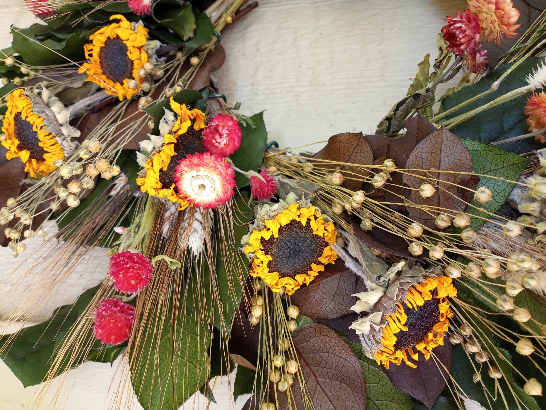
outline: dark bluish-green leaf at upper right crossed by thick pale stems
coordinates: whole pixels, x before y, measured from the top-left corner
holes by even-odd
[[[448,115],[446,119],[453,118],[454,116],[483,106],[493,99],[504,95],[508,91],[526,86],[527,81],[525,81],[525,78],[537,68],[538,63],[541,60],[542,59],[539,57],[527,58],[527,60],[515,68],[513,72],[508,74],[506,79],[502,81],[495,92],[481,97],[477,99],[477,101],[456,110],[453,114]],[[512,64],[503,64],[502,66],[488,73],[477,83],[467,85],[460,91],[447,96],[442,100],[440,112],[445,112],[448,109],[458,106],[468,99],[489,90],[491,85],[511,66]],[[524,112],[526,98],[527,95],[524,95],[512,99],[501,106],[497,106],[478,115],[474,115],[472,118],[452,128],[451,131],[460,138],[470,138],[487,144],[526,134],[529,132],[529,126],[527,126],[525,121],[527,119],[527,115],[525,115]],[[535,137],[530,137],[525,140],[503,144],[500,145],[500,147],[512,153],[523,154],[541,148],[541,144],[535,140]]]

